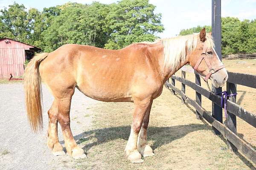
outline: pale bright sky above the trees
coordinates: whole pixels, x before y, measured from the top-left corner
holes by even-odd
[[[13,2],[23,4],[27,9],[62,5],[67,2],[116,3],[118,0],[0,0],[0,9]],[[156,6],[155,13],[162,14],[165,31],[159,37],[175,37],[180,30],[196,26],[211,25],[212,0],[149,0]],[[238,17],[239,20],[256,19],[256,0],[221,0],[222,17]]]

